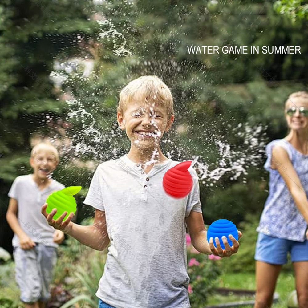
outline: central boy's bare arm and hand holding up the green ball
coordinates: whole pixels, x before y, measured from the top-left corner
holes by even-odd
[[[109,237],[107,233],[106,216],[104,211],[95,210],[93,225],[82,226],[71,221],[74,213],[70,213],[67,219],[63,222],[63,218],[67,212],[64,212],[57,220],[53,217],[56,209],[53,209],[49,214],[46,212],[47,203],[42,206],[42,214],[46,217],[48,224],[55,229],[61,230],[64,233],[74,237],[82,244],[96,250],[104,250],[109,245]]]

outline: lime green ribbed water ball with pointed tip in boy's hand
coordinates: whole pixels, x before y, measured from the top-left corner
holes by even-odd
[[[71,212],[75,215],[77,204],[73,196],[78,193],[80,189],[81,186],[70,186],[52,193],[46,200],[46,212],[49,214],[52,209],[57,209],[57,212],[53,217],[54,220],[57,220],[65,211],[67,211],[67,215],[64,217],[63,221],[67,219]]]

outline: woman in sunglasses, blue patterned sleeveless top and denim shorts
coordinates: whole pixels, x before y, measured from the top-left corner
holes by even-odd
[[[308,307],[308,92],[289,96],[285,116],[287,136],[265,148],[269,195],[257,227],[254,308],[271,307],[288,252],[294,266],[298,306]]]

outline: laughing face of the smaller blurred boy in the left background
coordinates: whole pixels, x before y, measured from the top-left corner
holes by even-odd
[[[30,165],[33,168],[34,176],[41,180],[46,178],[53,172],[57,166],[55,153],[41,150],[30,158]]]

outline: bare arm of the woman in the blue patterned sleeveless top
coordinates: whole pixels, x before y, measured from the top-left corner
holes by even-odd
[[[288,153],[281,146],[274,146],[272,160],[278,172],[286,182],[286,185],[294,199],[299,212],[308,224],[308,200],[300,179],[290,161]]]

